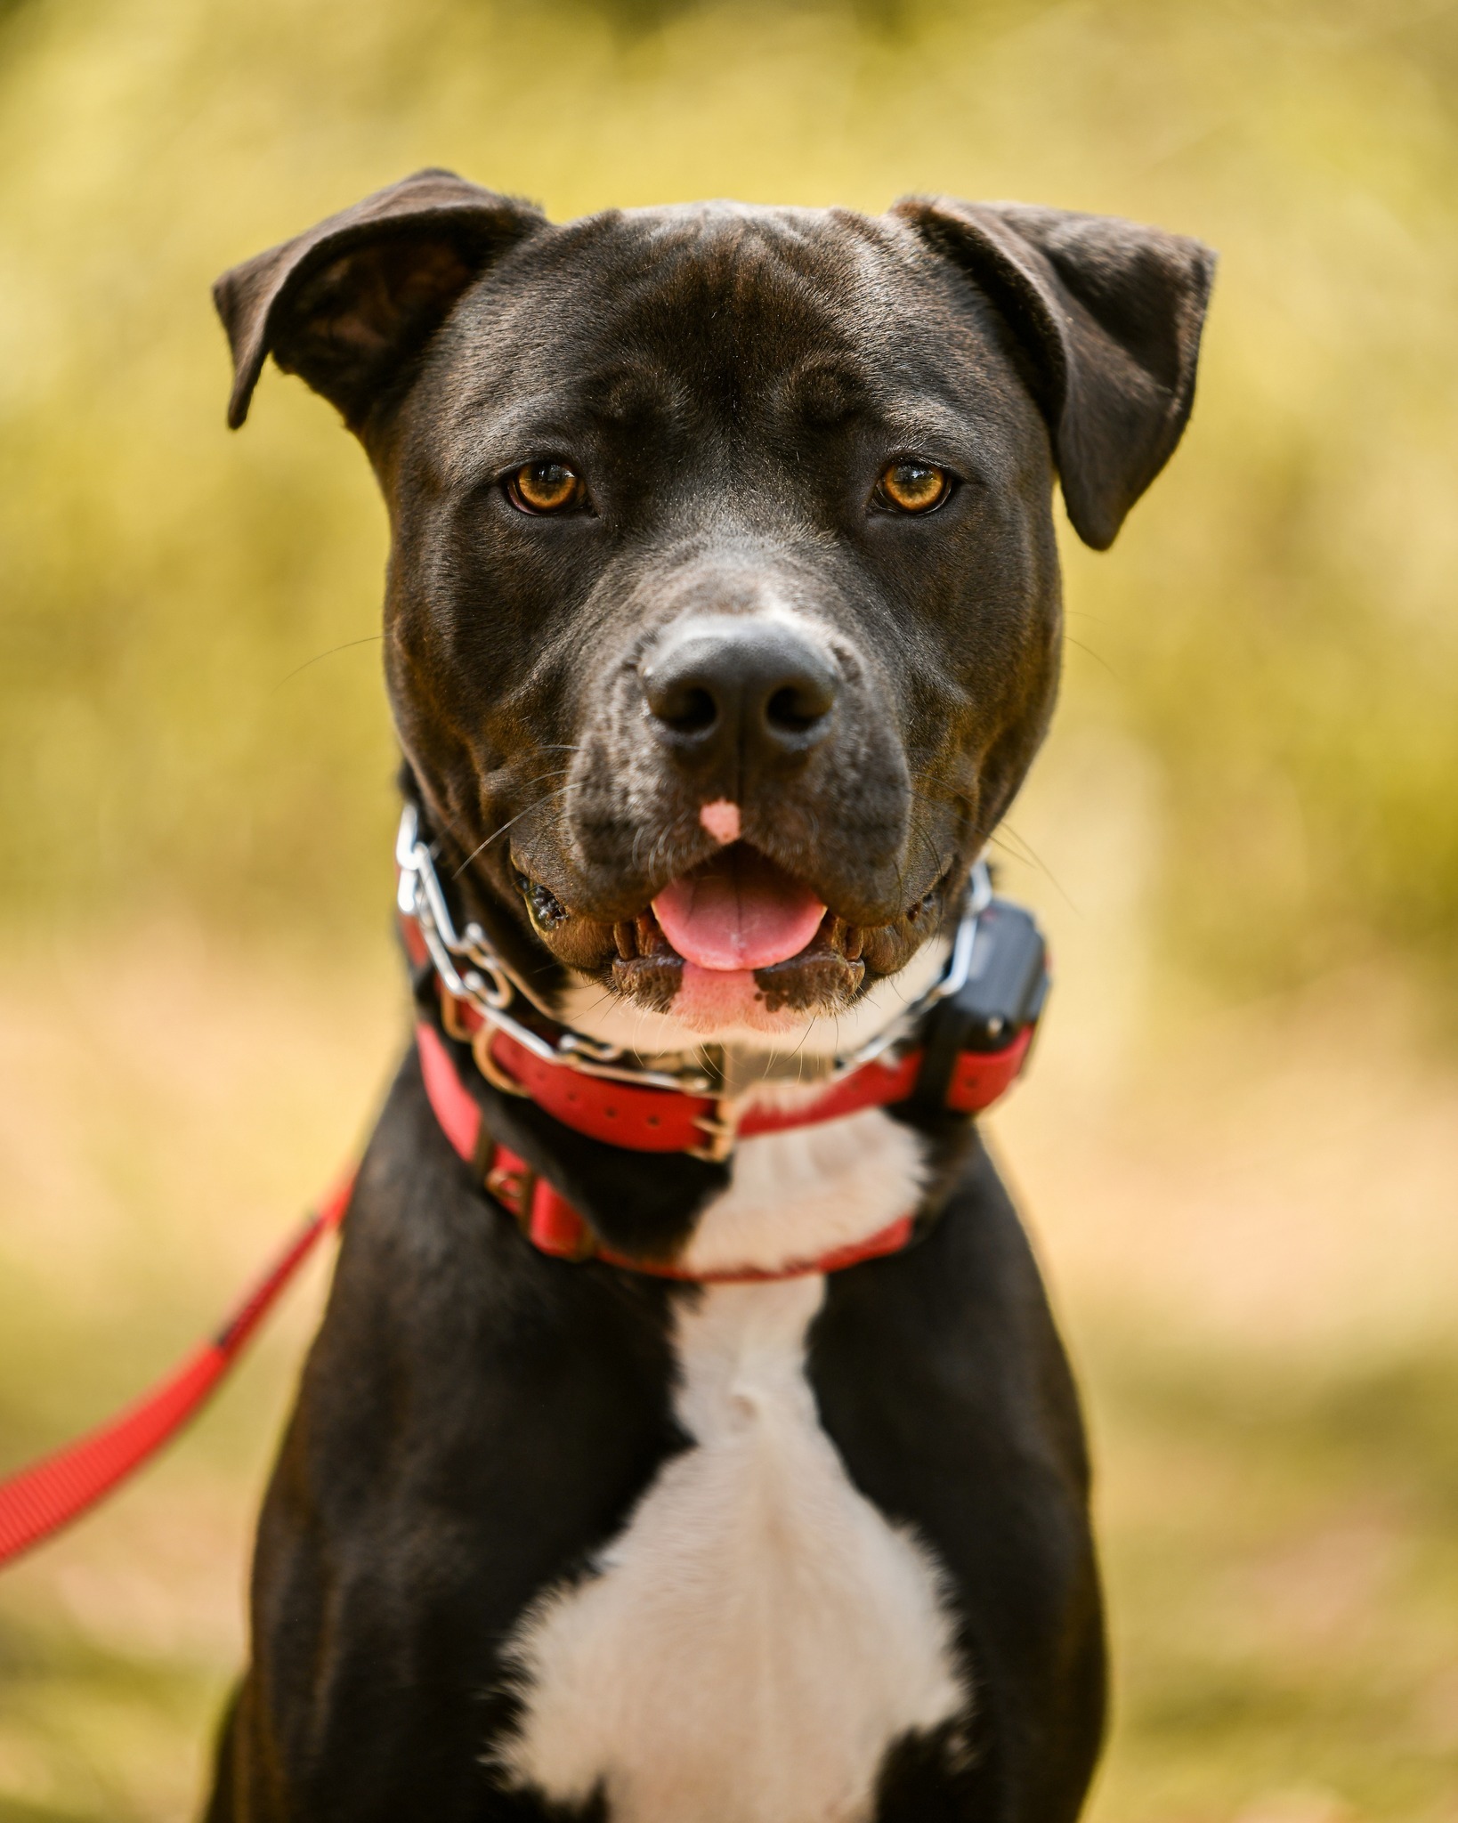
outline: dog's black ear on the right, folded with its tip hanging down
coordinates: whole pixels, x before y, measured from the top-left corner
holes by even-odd
[[[1048,419],[1073,529],[1106,551],[1174,454],[1216,255],[1114,215],[906,197],[893,215],[997,304]]]

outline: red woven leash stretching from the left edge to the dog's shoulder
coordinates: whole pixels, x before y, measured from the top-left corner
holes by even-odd
[[[0,1480],[0,1568],[80,1519],[197,1415],[288,1282],[350,1207],[354,1169],[330,1190],[222,1329],[115,1418]]]

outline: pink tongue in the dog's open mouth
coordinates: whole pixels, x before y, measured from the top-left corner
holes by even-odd
[[[700,968],[769,968],[798,955],[826,908],[767,860],[727,851],[652,901],[663,935]]]

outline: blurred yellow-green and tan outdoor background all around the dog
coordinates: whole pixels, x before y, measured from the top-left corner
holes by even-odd
[[[0,1468],[211,1320],[388,1066],[383,514],[297,381],[222,428],[208,284],[423,164],[1219,248],[1002,842],[1061,961],[997,1132],[1103,1464],[1095,1810],[1454,1823],[1453,4],[0,0]],[[308,1320],[0,1586],[4,1823],[188,1814]]]

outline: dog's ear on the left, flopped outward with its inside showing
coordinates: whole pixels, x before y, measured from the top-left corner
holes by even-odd
[[[248,416],[272,354],[359,430],[461,292],[543,226],[530,202],[477,190],[454,171],[416,171],[224,272],[213,303],[233,350],[228,423],[237,430]]]

